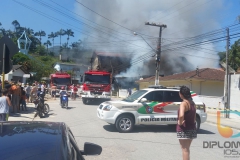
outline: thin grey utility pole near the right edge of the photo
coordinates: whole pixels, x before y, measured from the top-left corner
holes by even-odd
[[[229,106],[229,67],[228,67],[228,52],[229,52],[229,28],[226,29],[227,31],[227,46],[226,46],[226,71],[225,71],[225,95],[224,95],[224,110],[225,110],[225,118],[229,118],[230,106]]]

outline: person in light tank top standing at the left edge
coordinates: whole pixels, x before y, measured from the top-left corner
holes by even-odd
[[[7,94],[8,90],[6,88],[2,89],[2,97],[0,97],[0,121],[8,120],[9,107],[12,106]]]

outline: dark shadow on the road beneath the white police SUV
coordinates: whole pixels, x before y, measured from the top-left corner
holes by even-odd
[[[115,125],[104,125],[103,128],[108,132],[118,132]],[[174,125],[140,125],[140,126],[134,126],[134,129],[131,131],[131,133],[141,133],[141,132],[156,132],[156,133],[174,133],[176,132],[176,126]],[[215,134],[213,132],[200,129],[198,131],[198,134]]]

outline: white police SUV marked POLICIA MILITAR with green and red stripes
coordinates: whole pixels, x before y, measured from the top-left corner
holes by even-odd
[[[207,120],[205,104],[191,91],[196,104],[196,128]],[[119,132],[130,132],[134,125],[176,125],[182,99],[179,89],[150,86],[121,101],[106,101],[99,105],[97,116],[114,124]]]

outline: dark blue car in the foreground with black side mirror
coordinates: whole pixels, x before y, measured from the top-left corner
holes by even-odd
[[[85,143],[79,150],[69,127],[62,122],[0,122],[1,160],[82,160],[102,148]]]

